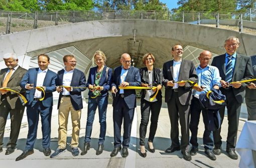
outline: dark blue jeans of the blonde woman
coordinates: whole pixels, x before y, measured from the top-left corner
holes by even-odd
[[[98,96],[96,98],[88,99],[88,111],[87,111],[87,122],[86,122],[86,131],[85,131],[85,142],[91,141],[91,131],[92,131],[92,124],[94,120],[94,115],[96,109],[98,107],[99,112],[99,124],[100,124],[100,133],[99,133],[99,142],[98,144],[103,144],[105,140],[106,134],[106,108],[107,108],[107,96],[101,97]]]

